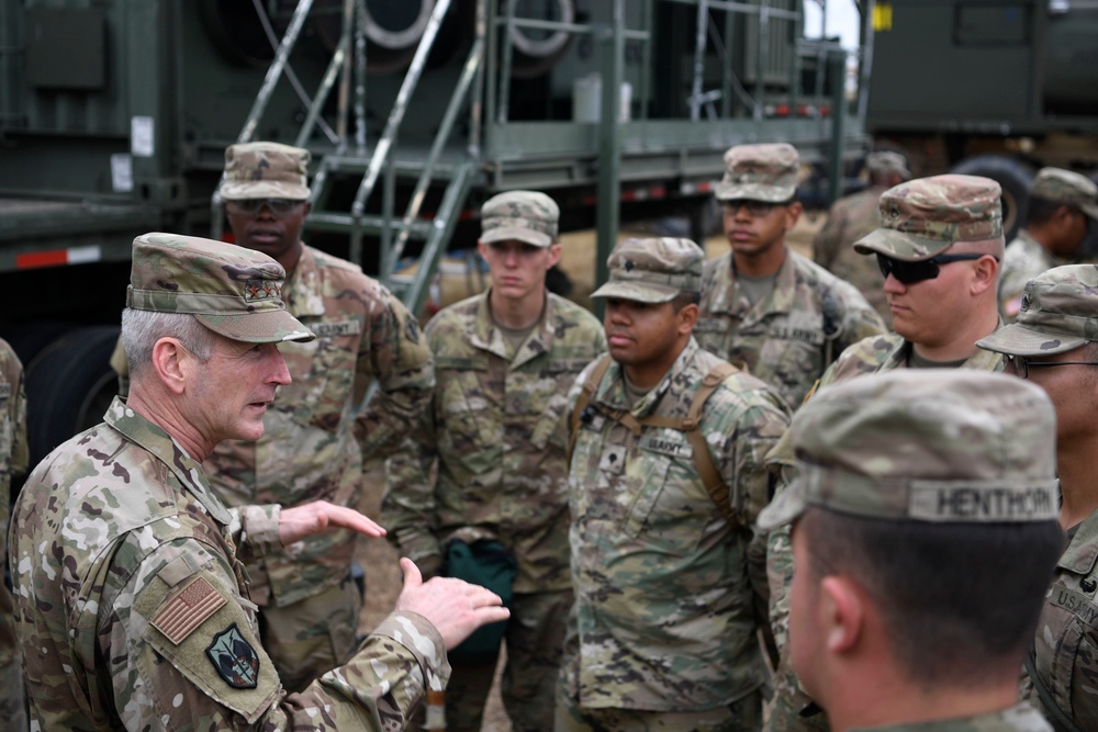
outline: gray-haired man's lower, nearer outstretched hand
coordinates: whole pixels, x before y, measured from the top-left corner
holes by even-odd
[[[424,582],[415,562],[401,560],[404,588],[396,598],[396,609],[416,612],[429,620],[450,651],[490,622],[511,617],[503,600],[490,589],[453,577],[433,577]]]

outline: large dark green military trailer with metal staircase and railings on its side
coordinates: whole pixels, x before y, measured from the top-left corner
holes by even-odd
[[[306,239],[413,308],[498,191],[597,226],[603,267],[621,219],[699,230],[733,144],[821,170],[865,146],[799,0],[0,0],[0,336],[32,460],[114,391],[134,236],[224,235],[234,142],[310,148]]]

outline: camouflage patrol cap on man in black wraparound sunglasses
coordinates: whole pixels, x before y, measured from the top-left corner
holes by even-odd
[[[999,184],[979,176],[932,176],[881,194],[881,228],[854,243],[860,255],[881,254],[917,262],[957,241],[1002,236]]]

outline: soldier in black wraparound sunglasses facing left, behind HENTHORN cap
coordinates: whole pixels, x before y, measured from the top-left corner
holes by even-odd
[[[996,301],[1004,246],[999,195],[994,180],[953,174],[908,181],[882,194],[882,227],[856,241],[854,250],[876,257],[896,333],[866,338],[847,349],[816,388],[894,369],[1002,370],[998,353],[976,347],[977,340],[1001,325]],[[793,477],[788,435],[769,461],[784,473],[785,482]],[[770,532],[766,552],[771,623],[783,644],[788,635],[793,577],[787,529]],[[809,720],[798,714],[813,703],[799,690],[786,647],[777,675],[768,729],[828,729],[822,714]]]

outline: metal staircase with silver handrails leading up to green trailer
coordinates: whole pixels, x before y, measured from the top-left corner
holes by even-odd
[[[259,0],[256,10],[262,16]],[[349,239],[349,257],[357,263],[363,261],[363,245],[367,237],[380,241],[378,254],[378,279],[400,296],[412,312],[418,312],[427,296],[430,279],[438,269],[446,245],[453,233],[458,215],[464,206],[479,170],[479,150],[475,143],[467,146],[463,156],[450,156],[444,160],[459,115],[467,109],[473,115],[471,128],[478,128],[480,104],[472,94],[474,86],[482,83],[484,67],[484,20],[477,20],[477,37],[461,68],[449,103],[439,121],[435,140],[423,158],[415,161],[396,159],[395,143],[404,122],[408,101],[415,93],[427,59],[435,47],[438,30],[451,8],[451,0],[437,0],[427,27],[408,67],[407,74],[396,95],[384,132],[368,149],[366,139],[366,40],[360,19],[366,13],[365,0],[345,0],[343,30],[316,93],[306,99],[309,112],[296,136],[295,145],[309,147],[317,160],[311,187],[310,201],[313,211],[306,227],[317,232],[345,234]],[[248,115],[237,142],[249,142],[259,125],[274,86],[283,76],[290,76],[290,54],[298,43],[305,16],[312,9],[313,0],[299,0],[287,26],[264,86]],[[479,8],[483,9],[480,3]],[[268,29],[270,34],[270,30]],[[274,41],[274,37],[271,36]],[[355,48],[355,53],[348,49]],[[354,103],[351,87],[354,83]],[[334,127],[335,139],[330,149],[311,145],[310,140],[318,123],[323,123],[322,108],[330,92],[338,90],[338,111]],[[472,100],[470,102],[470,100]],[[473,136],[475,140],[475,135]],[[350,211],[329,207],[333,184],[337,179],[359,177],[357,192]],[[412,194],[402,213],[394,209],[397,183],[412,184]],[[367,212],[367,203],[379,188],[381,210]],[[441,187],[442,195],[438,207],[429,219],[423,218],[424,199],[432,187]],[[214,236],[220,236],[223,221],[223,203],[217,194],[213,199]],[[407,244],[422,241],[418,266],[411,274],[399,274]]]

